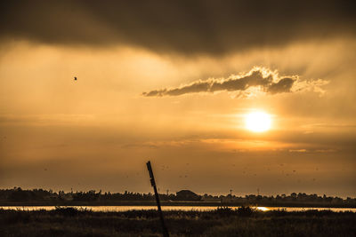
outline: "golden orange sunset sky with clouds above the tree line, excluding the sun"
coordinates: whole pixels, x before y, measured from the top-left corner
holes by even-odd
[[[355,197],[354,11],[1,2],[0,188]]]

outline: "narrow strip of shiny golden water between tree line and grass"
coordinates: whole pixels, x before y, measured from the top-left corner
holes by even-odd
[[[93,211],[127,211],[127,210],[141,210],[141,209],[157,209],[155,206],[70,206],[71,208],[77,209],[90,209]],[[231,207],[231,209],[238,209],[239,207]],[[275,209],[285,209],[287,211],[304,211],[309,209],[317,209],[317,210],[332,210],[336,212],[340,211],[352,211],[356,212],[356,209],[339,209],[339,208],[283,208],[283,207],[253,207],[254,209],[259,209],[262,211],[275,210]],[[55,209],[55,206],[9,206],[9,207],[0,207],[0,209],[20,209],[20,210],[51,210]],[[200,206],[163,206],[163,210],[198,210],[198,211],[209,211],[217,209],[217,207],[200,207]]]

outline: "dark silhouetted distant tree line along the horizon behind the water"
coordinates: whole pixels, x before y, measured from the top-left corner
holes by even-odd
[[[182,190],[176,194],[159,194],[161,201],[221,201],[221,202],[238,202],[249,204],[273,204],[273,203],[332,203],[332,204],[348,204],[356,205],[356,198],[347,197],[346,199],[340,197],[326,196],[325,194],[319,196],[317,194],[296,194],[290,195],[281,194],[276,196],[265,196],[250,194],[244,197],[227,195],[198,195],[190,190]],[[140,193],[102,193],[95,190],[88,192],[64,192],[58,193],[53,190],[32,189],[23,190],[20,187],[12,189],[0,189],[0,201],[154,201],[153,194]]]

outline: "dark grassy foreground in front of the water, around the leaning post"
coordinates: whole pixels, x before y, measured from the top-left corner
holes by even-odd
[[[308,210],[165,211],[171,236],[356,236],[356,213]],[[0,236],[160,236],[155,210],[0,209]]]

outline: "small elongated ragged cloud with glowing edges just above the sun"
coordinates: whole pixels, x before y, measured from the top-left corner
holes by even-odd
[[[325,91],[321,89],[321,86],[327,83],[327,81],[321,79],[302,81],[298,75],[280,76],[278,71],[271,71],[271,69],[264,67],[254,67],[248,73],[231,75],[228,78],[198,80],[180,87],[143,92],[142,96],[180,96],[198,92],[214,93],[216,91],[243,92],[248,91],[250,88],[257,88],[259,91],[271,95],[311,90],[324,93]]]

